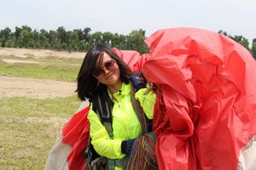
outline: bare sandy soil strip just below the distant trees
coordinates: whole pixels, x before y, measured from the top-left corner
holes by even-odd
[[[28,56],[35,57],[60,57],[60,58],[84,58],[85,53],[54,51],[46,49],[27,49],[27,48],[0,48],[0,55],[15,55],[16,57],[26,58]]]

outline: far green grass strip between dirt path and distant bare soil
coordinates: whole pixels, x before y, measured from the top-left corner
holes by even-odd
[[[39,64],[9,64],[3,62],[2,59],[16,59],[16,57],[0,57],[0,76],[39,78],[64,82],[76,81],[82,63],[82,59],[56,58],[50,56],[46,58],[19,58],[19,60],[36,61],[39,62]]]

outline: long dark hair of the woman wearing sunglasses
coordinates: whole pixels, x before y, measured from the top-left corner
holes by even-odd
[[[77,77],[78,88],[76,92],[78,93],[79,99],[92,99],[96,96],[97,88],[99,88],[99,86],[105,86],[99,83],[96,77],[93,77],[93,71],[96,69],[96,61],[99,57],[101,61],[104,53],[107,53],[111,58],[115,59],[117,65],[119,65],[121,82],[125,82],[125,84],[129,83],[131,69],[128,65],[126,65],[125,62],[119,58],[119,55],[114,53],[107,45],[97,44],[93,48],[90,48],[87,54],[85,54],[83,64]]]

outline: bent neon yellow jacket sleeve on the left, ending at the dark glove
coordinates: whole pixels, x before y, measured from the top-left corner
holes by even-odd
[[[90,138],[91,144],[96,152],[101,156],[106,156],[109,159],[121,159],[125,154],[121,152],[121,139],[110,139],[106,128],[102,125],[96,112],[92,111],[88,114],[90,122]]]

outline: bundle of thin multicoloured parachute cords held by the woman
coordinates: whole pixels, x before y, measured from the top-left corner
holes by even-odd
[[[145,133],[137,138],[132,145],[131,155],[124,161],[123,169],[154,170],[158,169],[154,152],[156,135]]]

